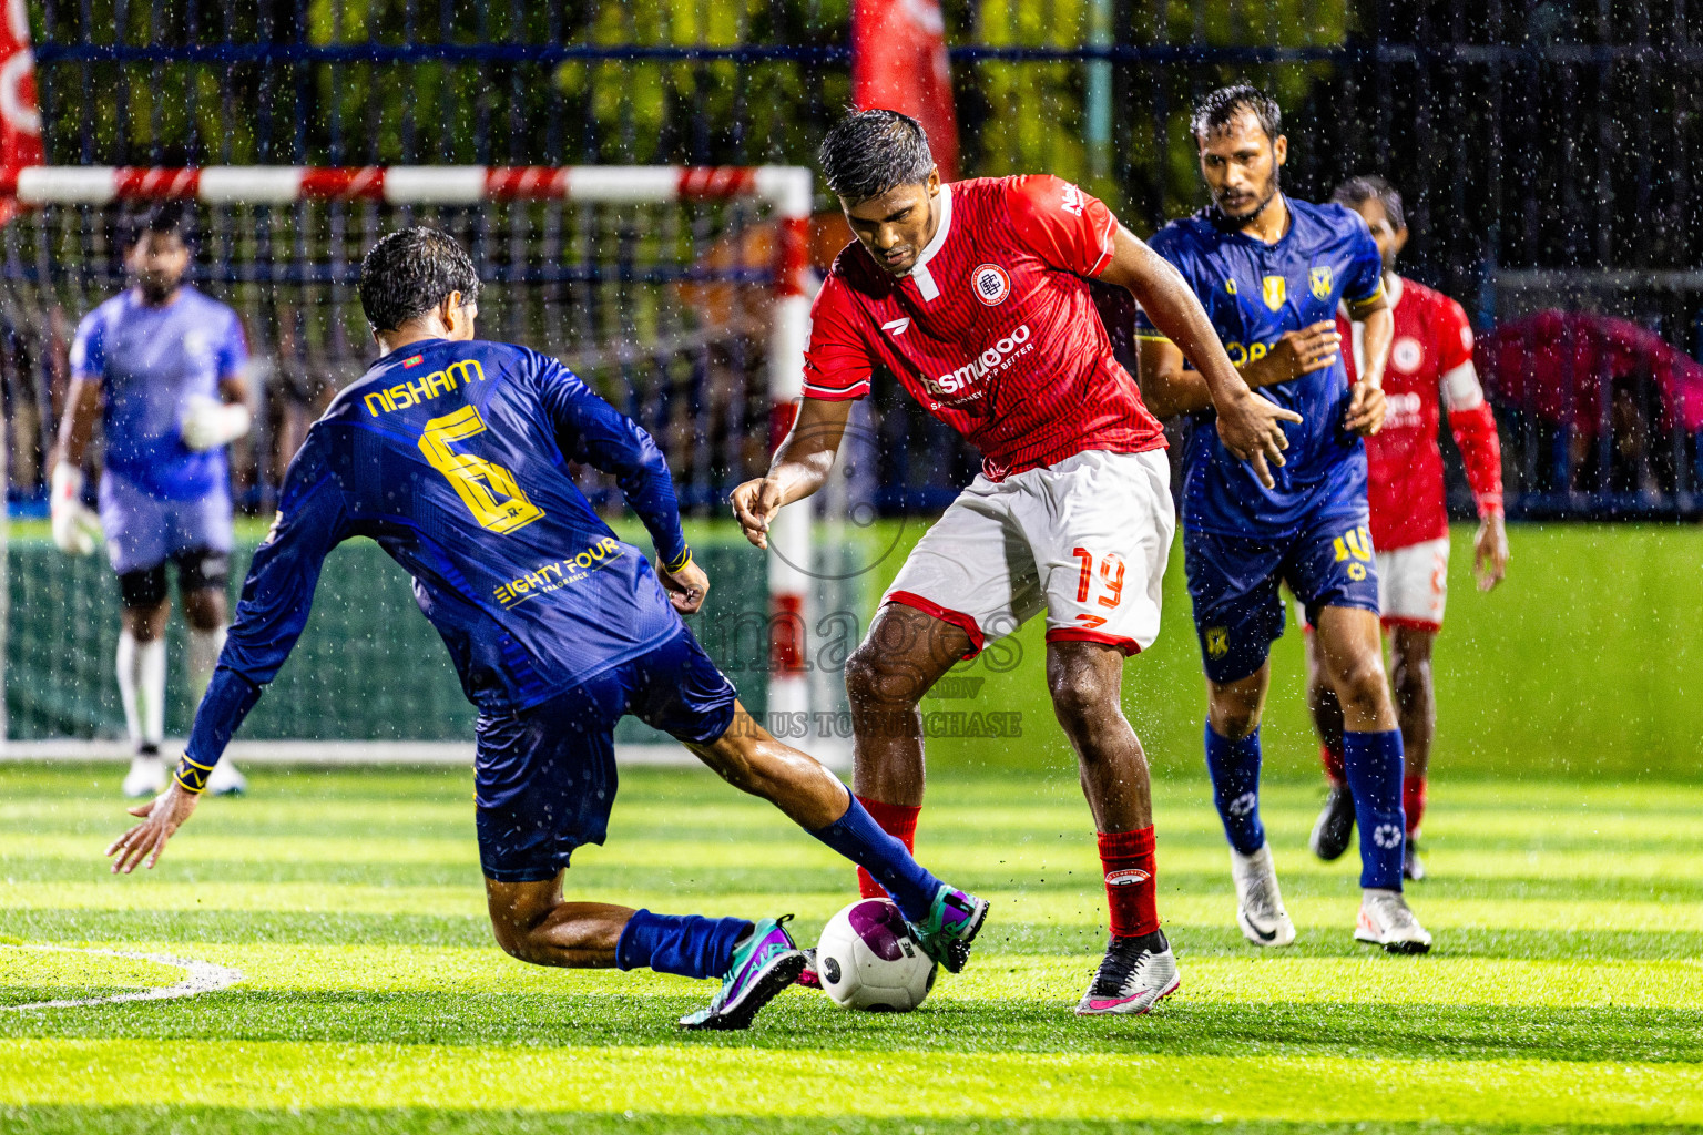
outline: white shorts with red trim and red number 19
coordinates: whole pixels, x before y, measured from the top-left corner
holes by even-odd
[[[882,602],[960,626],[966,659],[1042,607],[1047,642],[1136,653],[1160,633],[1175,517],[1163,449],[1090,449],[1003,482],[978,476],[916,543]]]

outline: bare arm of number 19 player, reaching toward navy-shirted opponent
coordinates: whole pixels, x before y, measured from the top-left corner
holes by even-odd
[[[1274,483],[1269,463],[1282,465],[1282,451],[1289,448],[1282,422],[1299,422],[1301,415],[1253,393],[1224,354],[1224,344],[1218,340],[1189,282],[1129,230],[1119,226],[1112,260],[1100,279],[1127,288],[1153,325],[1175,344],[1173,349],[1194,362],[1218,410],[1219,439],[1236,459],[1252,465],[1269,488]]]

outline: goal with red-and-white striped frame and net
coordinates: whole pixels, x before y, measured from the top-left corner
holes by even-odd
[[[255,517],[238,526],[238,579],[307,424],[376,354],[359,262],[404,225],[443,228],[470,250],[484,281],[480,335],[564,359],[657,439],[688,522],[725,517],[729,490],[766,466],[799,393],[811,192],[809,172],[792,167],[0,172],[0,199],[15,206],[0,228],[10,482],[44,483],[77,322],[126,286],[135,218],[179,199],[192,206],[189,281],[240,313],[254,356],[255,429],[232,461],[238,507]],[[647,548],[613,480],[577,475]],[[725,526],[695,538],[714,587],[693,628],[746,704],[797,737],[800,721],[819,732],[823,711],[838,708],[836,682],[817,677],[812,691],[806,635],[838,597],[816,584],[834,572],[816,570],[809,510],[788,509],[771,543],[765,562]],[[7,555],[7,737],[121,737],[106,562],[60,555],[43,524],[14,526]],[[182,735],[192,706],[179,662],[170,703],[167,730]],[[385,750],[410,754],[422,747],[404,742],[470,737],[472,708],[407,579],[376,546],[351,541],[327,563],[296,655],[244,739],[393,742]],[[635,721],[622,739],[661,740]]]

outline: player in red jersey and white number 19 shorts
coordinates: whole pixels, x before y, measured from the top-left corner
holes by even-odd
[[[823,141],[857,242],[812,308],[804,403],[734,514],[766,546],[775,512],[833,468],[852,400],[892,371],[983,453],[846,665],[855,790],[906,844],[923,803],[918,701],[959,659],[1047,613],[1047,686],[1093,812],[1110,946],[1078,1012],[1146,1012],[1177,989],[1155,904],[1146,757],[1119,708],[1124,659],[1160,628],[1175,509],[1165,436],[1112,357],[1088,281],[1127,288],[1211,388],[1218,431],[1270,483],[1281,410],[1248,390],[1194,293],[1095,197],[1056,177],[942,184],[923,128],[863,111]],[[863,893],[879,895],[863,878]]]

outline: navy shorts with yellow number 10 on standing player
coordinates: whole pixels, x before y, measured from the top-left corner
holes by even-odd
[[[1364,516],[1310,521],[1279,539],[1187,529],[1182,546],[1201,662],[1214,682],[1235,682],[1265,665],[1284,628],[1279,584],[1289,584],[1313,626],[1325,607],[1378,613],[1378,565]]]

